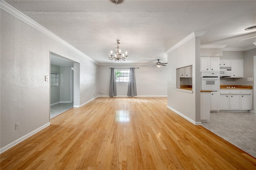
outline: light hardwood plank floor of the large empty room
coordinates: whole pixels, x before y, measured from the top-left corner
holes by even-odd
[[[166,97],[99,97],[2,153],[1,170],[256,169],[255,158],[166,106]]]

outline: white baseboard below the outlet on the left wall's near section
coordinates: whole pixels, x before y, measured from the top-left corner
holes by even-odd
[[[30,133],[28,133],[28,134],[22,136],[21,138],[18,138],[17,140],[14,140],[12,143],[10,143],[10,144],[8,144],[8,145],[2,147],[2,148],[0,149],[0,154],[2,154],[2,153],[5,152],[6,150],[12,148],[12,147],[15,146],[16,144],[22,142],[23,140],[29,138],[29,137],[32,136],[33,134],[36,134],[37,132],[39,132],[40,130],[43,130],[44,128],[46,128],[46,127],[48,127],[48,126],[50,126],[50,122],[49,122],[49,123],[46,123],[45,125],[43,125],[43,126],[41,126],[41,127],[39,127],[39,128],[37,128],[36,130],[33,130],[32,132],[30,132]]]

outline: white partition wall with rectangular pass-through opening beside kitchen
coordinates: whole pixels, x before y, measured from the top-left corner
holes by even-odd
[[[176,91],[176,68],[192,65],[193,93]],[[168,107],[200,122],[200,37],[194,37],[168,53]]]

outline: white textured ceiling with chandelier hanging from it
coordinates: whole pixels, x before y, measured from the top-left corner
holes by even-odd
[[[253,46],[256,1],[11,0],[6,1],[100,64],[115,51],[128,51],[124,63],[167,61],[164,53],[194,31],[206,31],[202,45]],[[242,40],[250,38],[248,40]],[[112,62],[115,64],[118,62]],[[120,64],[120,62],[118,63]]]

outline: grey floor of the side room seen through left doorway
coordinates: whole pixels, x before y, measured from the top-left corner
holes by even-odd
[[[50,119],[73,108],[73,103],[58,103],[51,106]]]

